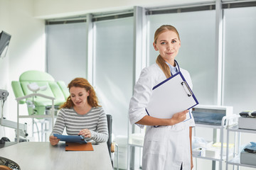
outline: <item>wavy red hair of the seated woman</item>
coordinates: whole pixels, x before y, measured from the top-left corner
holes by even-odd
[[[87,79],[84,78],[75,78],[72,81],[70,81],[70,84],[68,84],[68,89],[70,90],[71,87],[81,87],[85,88],[86,91],[89,91],[89,96],[87,96],[88,104],[92,107],[98,107],[100,106],[98,104],[98,99],[95,93],[95,90],[93,89],[92,85],[87,81]],[[71,100],[70,96],[68,96],[67,101],[63,103],[60,108],[72,108],[74,106],[73,101]]]

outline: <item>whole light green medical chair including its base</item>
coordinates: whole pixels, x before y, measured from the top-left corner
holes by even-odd
[[[67,86],[65,86],[65,83],[63,81],[55,81],[53,77],[46,72],[30,70],[27,72],[23,72],[23,74],[21,74],[21,76],[19,77],[18,81],[11,81],[11,86],[14,91],[15,97],[22,98],[35,93],[28,88],[28,85],[34,83],[36,83],[38,86],[46,87],[44,91],[37,91],[36,93],[55,98],[54,105],[56,110],[58,110],[58,107],[62,103],[64,103],[66,98],[68,98],[69,96],[68,88]],[[24,98],[23,100],[18,101],[18,103],[27,104],[28,115],[31,115],[31,118],[33,117],[33,115],[46,115],[52,106],[52,101],[41,96]],[[36,118],[36,120],[41,123],[41,141],[43,141],[43,134],[45,133],[44,129],[46,129],[43,128],[43,125],[46,126],[45,120],[47,119]]]

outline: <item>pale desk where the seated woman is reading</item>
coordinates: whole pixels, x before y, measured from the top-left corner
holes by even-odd
[[[94,151],[65,152],[65,142],[21,142],[0,149],[0,157],[16,162],[21,170],[112,170],[107,143],[92,145]]]

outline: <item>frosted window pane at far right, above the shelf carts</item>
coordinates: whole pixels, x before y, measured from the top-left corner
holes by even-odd
[[[234,113],[255,110],[256,7],[224,10],[223,103]]]

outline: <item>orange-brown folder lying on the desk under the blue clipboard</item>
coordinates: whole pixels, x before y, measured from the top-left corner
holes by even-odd
[[[93,151],[92,143],[65,142],[65,151]]]

